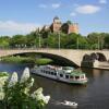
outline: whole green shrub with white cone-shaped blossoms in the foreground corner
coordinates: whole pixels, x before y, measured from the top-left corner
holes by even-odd
[[[20,81],[16,72],[9,78],[9,75],[0,76],[1,109],[44,109],[46,107],[50,96],[44,96],[41,87],[31,93],[34,78],[29,76],[27,68]]]

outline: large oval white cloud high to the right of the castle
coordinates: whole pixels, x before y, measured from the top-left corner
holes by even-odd
[[[99,10],[100,10],[100,7],[90,5],[90,4],[80,5],[80,7],[75,8],[75,11],[77,13],[82,13],[82,14],[93,14],[93,13],[98,12]]]

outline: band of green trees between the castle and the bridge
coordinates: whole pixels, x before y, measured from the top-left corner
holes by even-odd
[[[68,21],[60,32],[61,48],[71,49],[107,49],[109,48],[108,33],[90,33],[86,37],[80,34],[68,35]],[[14,35],[13,37],[0,37],[0,48],[59,48],[59,33],[51,33],[50,29],[35,31],[27,35]]]

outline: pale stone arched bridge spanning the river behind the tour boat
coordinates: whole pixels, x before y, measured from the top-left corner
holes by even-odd
[[[109,51],[106,50],[72,50],[72,49],[16,49],[16,50],[0,50],[0,57],[37,52],[46,56],[59,57],[63,60],[68,60],[77,66],[87,65],[92,62],[104,62],[109,60]],[[90,63],[89,63],[90,62]],[[96,63],[97,63],[96,62]]]

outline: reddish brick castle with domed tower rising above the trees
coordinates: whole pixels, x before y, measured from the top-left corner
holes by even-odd
[[[62,23],[58,16],[53,19],[53,23],[51,25],[45,25],[40,32],[51,32],[51,33],[59,33],[62,32],[64,34],[75,33],[78,34],[78,24],[71,23],[68,21],[66,23]]]

